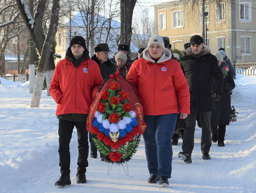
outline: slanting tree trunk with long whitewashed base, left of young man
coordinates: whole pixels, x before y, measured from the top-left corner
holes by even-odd
[[[51,50],[54,43],[54,38],[58,26],[58,15],[59,15],[59,0],[53,0],[53,9],[50,26],[48,29],[47,37],[43,46],[41,59],[39,61],[38,70],[36,73],[35,86],[33,96],[31,100],[31,107],[39,107],[40,99],[42,95],[43,80],[48,67],[49,57],[51,56]],[[45,60],[47,58],[47,60]]]

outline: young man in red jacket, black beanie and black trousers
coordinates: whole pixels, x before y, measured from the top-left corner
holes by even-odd
[[[88,131],[86,118],[93,96],[103,83],[100,69],[90,59],[85,39],[75,36],[65,59],[59,61],[53,73],[50,94],[57,105],[56,115],[59,119],[59,166],[60,179],[55,186],[70,185],[70,140],[74,126],[78,138],[77,183],[86,183],[86,167],[88,167]]]

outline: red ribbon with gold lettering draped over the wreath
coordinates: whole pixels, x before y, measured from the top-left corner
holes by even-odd
[[[119,75],[119,72],[116,71],[115,74],[110,74],[110,79],[103,85],[103,88],[99,91],[96,98],[94,99],[92,105],[90,106],[90,111],[87,116],[86,120],[86,129],[88,132],[92,132],[92,121],[95,115],[95,112],[97,110],[99,101],[101,99],[102,94],[109,88],[109,84],[116,79],[117,83],[120,84],[122,90],[125,92],[129,102],[131,105],[133,105],[133,110],[136,113],[136,119],[138,121],[138,128],[139,128],[139,135],[142,135],[145,131],[147,125],[144,122],[144,116],[143,116],[143,107],[139,102],[139,99],[137,98],[136,94],[134,93],[133,89],[131,88],[131,85],[122,77]]]

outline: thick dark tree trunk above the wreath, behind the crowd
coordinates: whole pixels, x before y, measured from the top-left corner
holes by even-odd
[[[127,44],[131,45],[131,22],[132,22],[132,15],[133,9],[137,0],[127,0]],[[120,34],[120,44],[125,44],[125,1],[121,0],[120,3],[120,16],[121,16],[121,34]]]

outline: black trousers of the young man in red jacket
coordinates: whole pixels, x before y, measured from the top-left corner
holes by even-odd
[[[70,140],[74,126],[77,130],[78,139],[78,160],[77,172],[86,173],[88,167],[88,131],[86,130],[86,121],[74,122],[59,119],[59,166],[61,175],[70,175]]]

